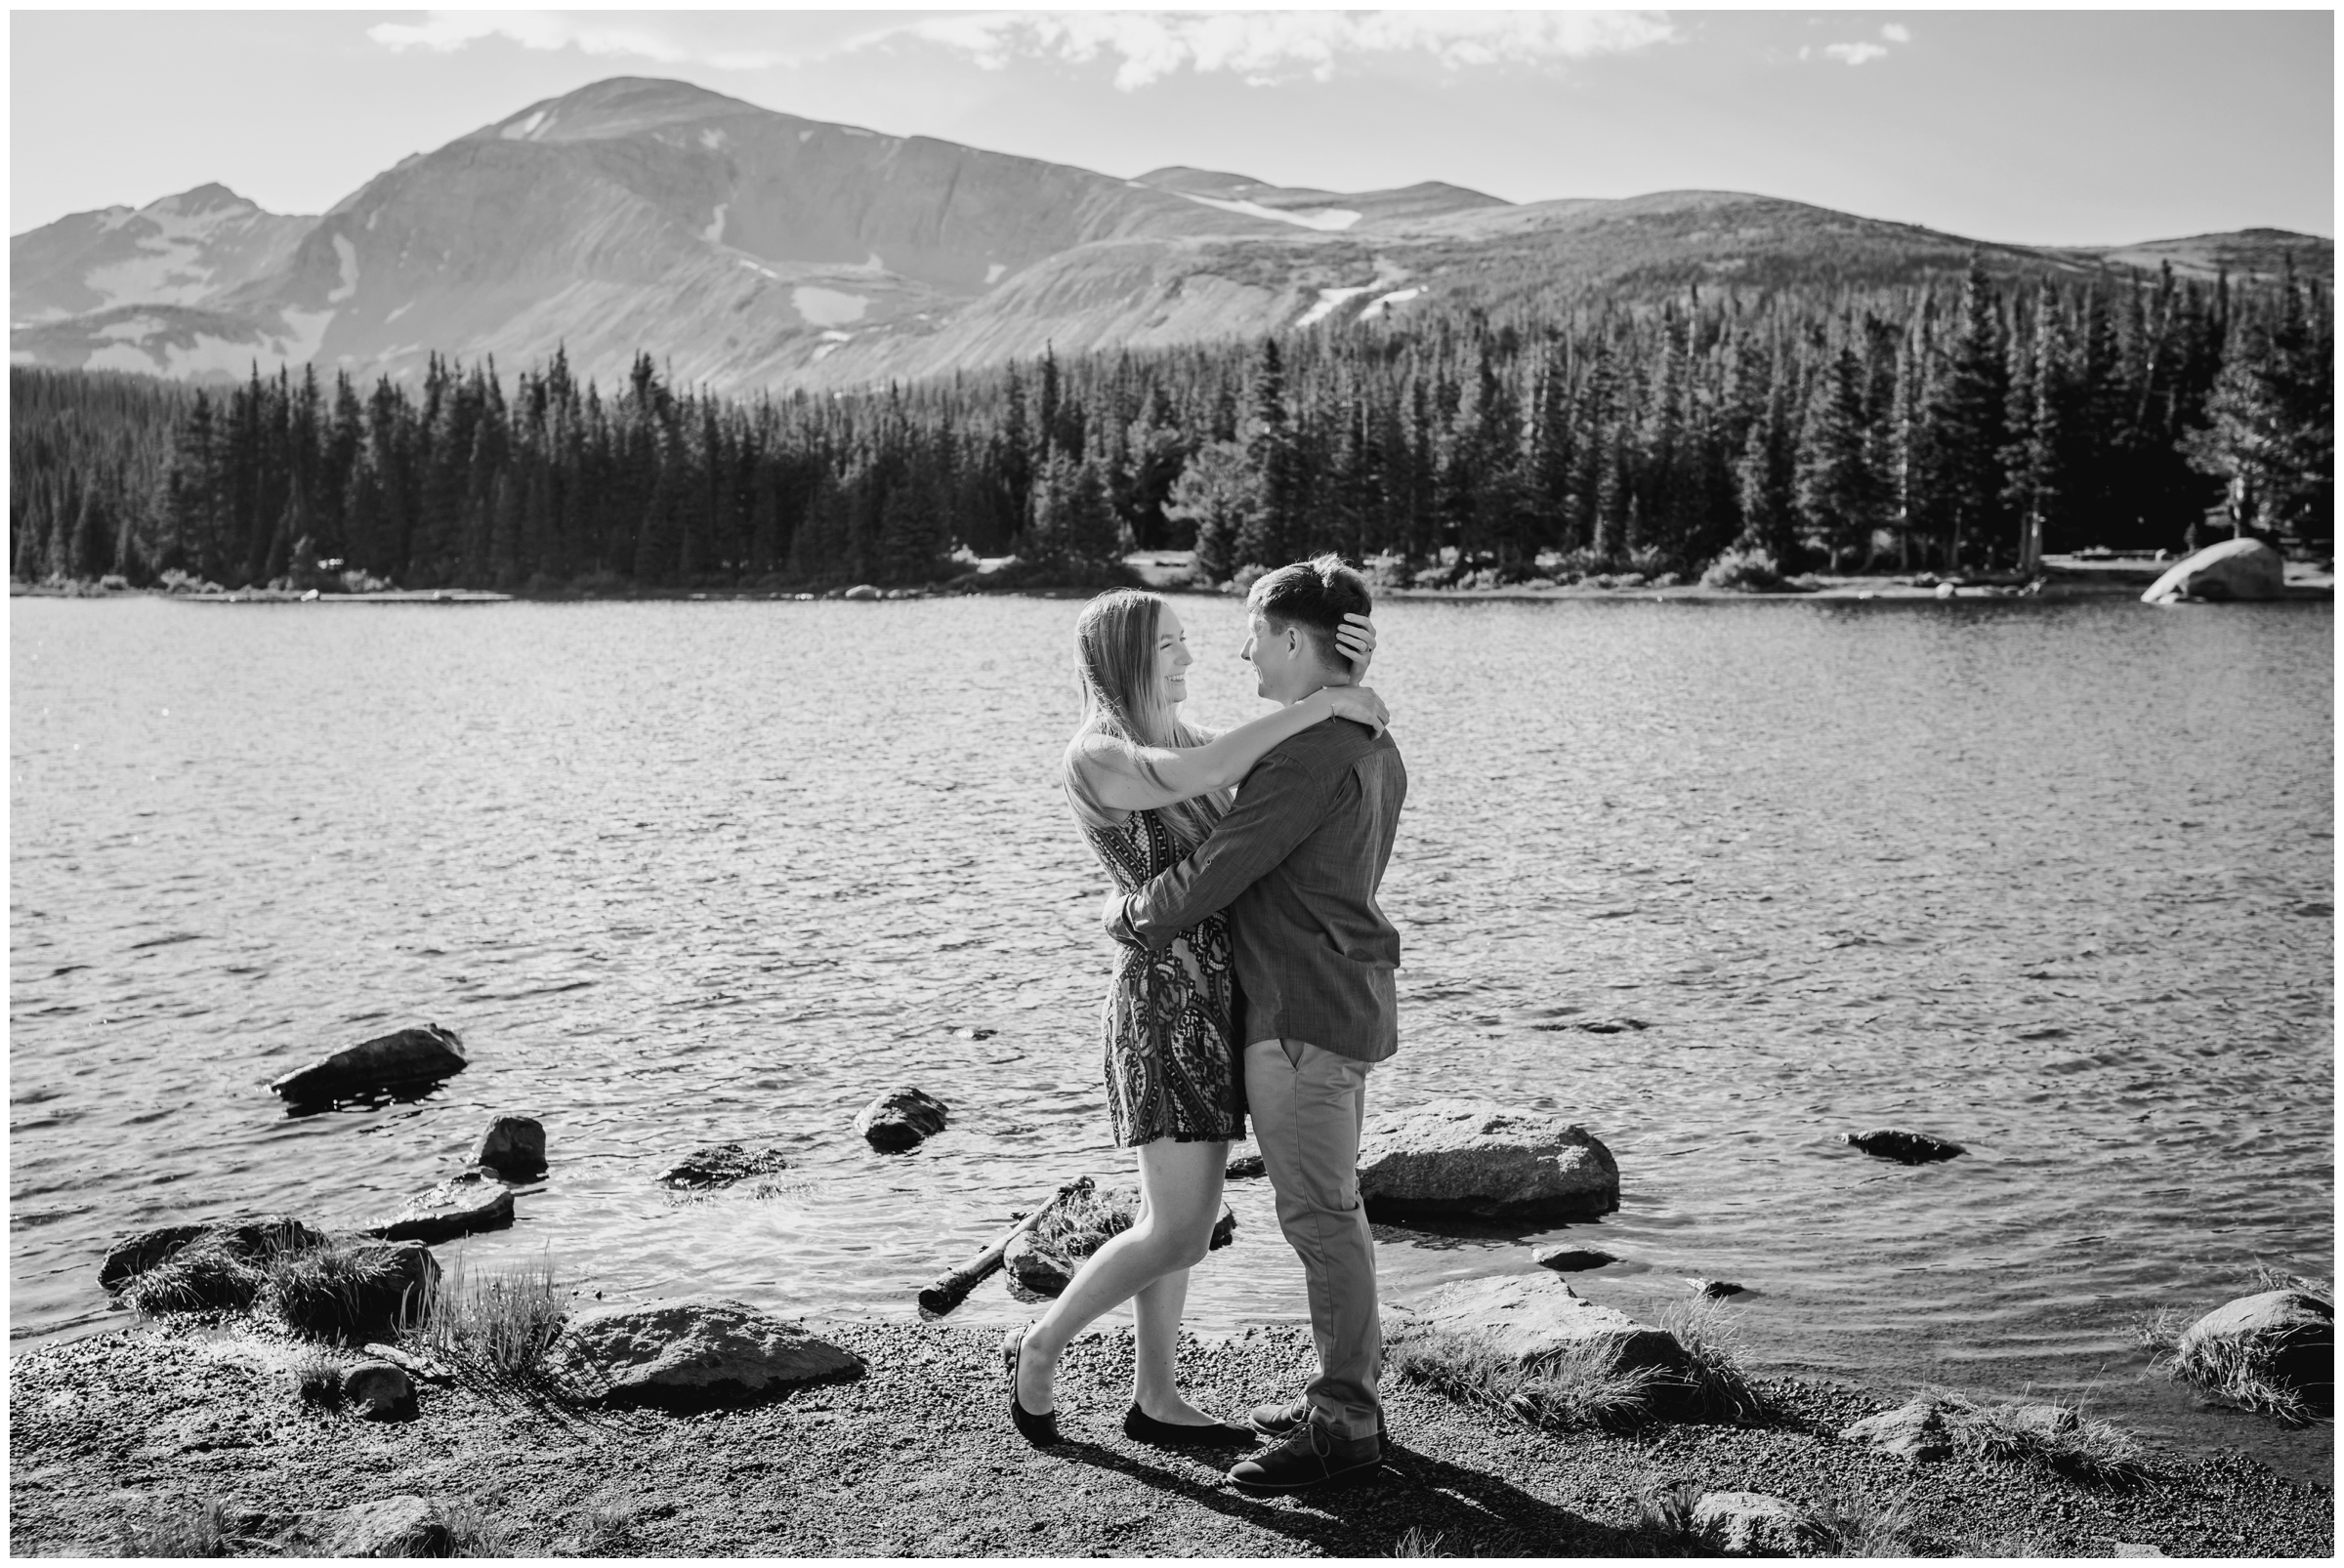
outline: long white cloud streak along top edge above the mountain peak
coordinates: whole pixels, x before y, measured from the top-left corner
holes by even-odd
[[[764,70],[893,42],[926,42],[1001,70],[1013,61],[1113,61],[1132,91],[1177,70],[1247,82],[1329,80],[1371,56],[1449,70],[1559,66],[1669,42],[1660,12],[427,12],[366,30],[387,49],[441,54],[502,38],[663,66]]]

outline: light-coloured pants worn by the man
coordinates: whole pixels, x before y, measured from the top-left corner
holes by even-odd
[[[1374,1437],[1383,1320],[1376,1242],[1360,1207],[1360,1123],[1367,1062],[1308,1041],[1245,1048],[1245,1099],[1261,1165],[1277,1188],[1277,1223],[1310,1284],[1320,1376],[1303,1390],[1336,1437]]]

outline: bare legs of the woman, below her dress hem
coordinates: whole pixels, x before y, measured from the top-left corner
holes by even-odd
[[[1156,1139],[1139,1146],[1139,1219],[1130,1230],[1099,1247],[1076,1270],[1074,1280],[1050,1310],[1027,1329],[1024,1355],[1017,1359],[1017,1404],[1045,1416],[1057,1409],[1050,1383],[1057,1378],[1057,1357],[1069,1341],[1090,1327],[1102,1313],[1123,1305],[1165,1275],[1181,1275],[1177,1296],[1170,1298],[1170,1317],[1160,1310],[1142,1308],[1139,1331],[1144,1338],[1139,1366],[1156,1352],[1170,1373],[1179,1343],[1179,1308],[1188,1296],[1186,1273],[1205,1259],[1212,1245],[1212,1223],[1221,1216],[1221,1177],[1228,1165],[1228,1144],[1177,1144]],[[1160,1305],[1160,1303],[1158,1303]],[[1146,1373],[1134,1373],[1146,1376]],[[1170,1388],[1170,1383],[1167,1383]],[[1153,1385],[1146,1390],[1156,1395]],[[1179,1395],[1174,1390],[1174,1402]],[[1158,1420],[1193,1420],[1181,1416],[1186,1402],[1149,1409]]]

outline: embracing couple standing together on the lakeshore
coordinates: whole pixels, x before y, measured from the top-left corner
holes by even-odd
[[[1083,722],[1064,783],[1118,888],[1106,1102],[1116,1144],[1139,1153],[1142,1207],[1010,1334],[1003,1362],[1010,1420],[1057,1441],[1059,1355],[1130,1301],[1125,1434],[1181,1448],[1273,1439],[1228,1479],[1299,1491],[1383,1458],[1376,1249],[1355,1167],[1369,1066],[1399,1048],[1399,933],[1376,886],[1409,776],[1383,703],[1357,684],[1376,645],[1367,581],[1320,555],[1261,577],[1245,612],[1242,656],[1280,708],[1221,736],[1179,717],[1193,659],[1165,600],[1104,593],[1076,626]],[[1188,1404],[1174,1359],[1188,1268],[1247,1113],[1303,1263],[1320,1373],[1240,1425]]]

